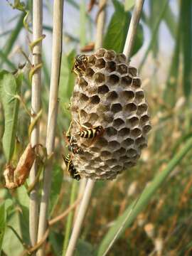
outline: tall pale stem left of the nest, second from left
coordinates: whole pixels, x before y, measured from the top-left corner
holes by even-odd
[[[55,127],[58,114],[58,85],[60,78],[60,61],[63,38],[63,0],[55,0],[53,3],[53,47],[52,65],[50,73],[50,95],[48,106],[48,127],[46,149],[48,156],[53,154],[55,144]],[[48,200],[50,195],[52,161],[46,166],[43,175],[43,189],[38,223],[38,241],[41,240],[47,227]],[[44,255],[43,247],[38,250],[38,256]]]

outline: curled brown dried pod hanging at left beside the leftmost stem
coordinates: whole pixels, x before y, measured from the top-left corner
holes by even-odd
[[[7,188],[17,188],[26,181],[35,158],[35,149],[32,148],[31,143],[29,143],[26,149],[23,151],[16,169],[14,169],[11,165],[6,166],[4,178],[6,180]]]

